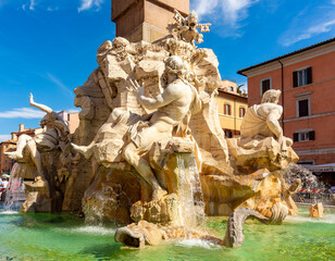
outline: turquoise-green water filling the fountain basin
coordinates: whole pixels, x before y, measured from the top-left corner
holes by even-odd
[[[223,237],[226,217],[207,228]],[[335,260],[335,211],[324,219],[289,216],[284,225],[247,221],[245,244],[225,248],[207,241],[172,240],[144,249],[114,241],[116,226],[89,226],[70,214],[18,214],[0,209],[0,260]]]

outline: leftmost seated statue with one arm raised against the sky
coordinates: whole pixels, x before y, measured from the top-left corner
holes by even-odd
[[[42,128],[46,128],[46,130],[37,134],[35,137],[30,137],[25,134],[21,135],[16,144],[16,151],[5,152],[5,154],[17,161],[23,159],[23,151],[24,149],[27,149],[37,169],[38,176],[44,177],[40,150],[48,151],[58,147],[64,149],[65,145],[69,144],[70,130],[58,113],[45,104],[35,102],[32,94],[29,97],[29,105],[47,113],[47,115],[39,123]]]

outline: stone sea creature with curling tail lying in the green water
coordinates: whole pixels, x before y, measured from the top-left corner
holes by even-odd
[[[125,227],[121,227],[115,232],[115,241],[122,243],[124,246],[141,248],[145,245],[158,245],[162,240],[176,238],[199,238],[210,243],[226,246],[240,247],[245,236],[243,226],[248,217],[255,217],[265,224],[282,224],[287,216],[288,209],[282,203],[276,203],[271,208],[272,216],[266,219],[258,211],[252,209],[238,209],[234,211],[227,221],[226,232],[223,239],[214,237],[206,232],[184,226],[161,226],[146,221],[139,221]]]

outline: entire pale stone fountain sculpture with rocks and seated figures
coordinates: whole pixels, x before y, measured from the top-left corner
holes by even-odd
[[[210,24],[175,11],[171,34],[149,44],[116,37],[97,53],[98,67],[74,92],[79,126],[71,135],[50,108],[46,132],[20,137],[9,154],[21,165],[27,200],[21,212],[73,211],[87,222],[127,224],[115,240],[140,247],[196,237],[243,243],[249,215],[281,224],[297,211],[285,167],[298,160],[278,120],[280,90],[246,113],[238,138],[218,117],[219,62],[198,48]],[[200,28],[200,33],[197,27]],[[201,231],[207,215],[231,215],[224,239]]]

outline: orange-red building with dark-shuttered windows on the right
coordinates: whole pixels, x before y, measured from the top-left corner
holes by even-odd
[[[335,38],[238,71],[248,77],[248,105],[282,90],[284,135],[300,164],[335,163]]]

